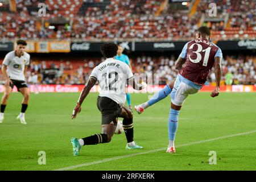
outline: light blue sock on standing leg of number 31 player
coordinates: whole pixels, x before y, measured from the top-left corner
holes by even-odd
[[[179,110],[170,110],[169,114],[169,122],[168,122],[168,134],[169,134],[169,147],[174,146],[174,139],[178,127],[178,120],[179,120]]]

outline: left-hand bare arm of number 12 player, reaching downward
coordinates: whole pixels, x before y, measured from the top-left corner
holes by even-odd
[[[89,77],[89,80],[88,80],[86,86],[84,87],[84,89],[82,89],[82,92],[80,94],[79,100],[77,101],[76,107],[73,110],[72,117],[71,117],[72,119],[75,119],[76,115],[78,113],[80,113],[82,102],[84,101],[84,99],[88,95],[88,93],[90,92],[90,89],[92,89],[92,87],[96,84],[96,81],[97,81],[96,78]]]

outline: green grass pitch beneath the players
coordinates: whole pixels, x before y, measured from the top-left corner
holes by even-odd
[[[225,137],[256,130],[256,93],[209,95],[198,93],[185,101],[179,116],[176,154],[165,152],[168,97],[141,115],[134,112],[134,140],[144,147],[142,150],[125,150],[122,133],[115,134],[110,143],[84,146],[80,156],[74,157],[71,137],[101,132],[97,94],[89,94],[81,113],[71,120],[79,93],[31,93],[28,125],[22,125],[16,120],[22,96],[12,93],[5,120],[0,123],[0,170],[54,170],[78,164],[85,165],[71,170],[255,170],[256,133]],[[147,94],[131,94],[133,105],[147,98]],[[224,138],[214,139],[218,137]],[[207,139],[213,140],[202,142]],[[45,165],[38,164],[39,151],[46,152]],[[210,151],[216,152],[217,164],[208,163]],[[130,155],[141,152],[146,153]],[[113,160],[118,156],[125,157]]]

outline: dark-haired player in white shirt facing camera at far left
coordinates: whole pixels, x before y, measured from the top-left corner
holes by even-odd
[[[27,110],[30,93],[26,84],[25,75],[27,66],[30,64],[30,55],[27,52],[24,52],[24,49],[27,46],[26,41],[18,40],[16,43],[17,46],[15,51],[7,53],[2,64],[2,74],[5,77],[6,82],[5,92],[1,100],[0,123],[3,122],[3,113],[5,112],[7,100],[15,85],[18,91],[23,95],[22,109],[17,119],[19,119],[20,123],[26,125],[25,111]]]

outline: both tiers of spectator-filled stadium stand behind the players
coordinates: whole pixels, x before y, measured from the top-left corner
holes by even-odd
[[[16,0],[16,12],[9,5],[0,7],[0,39],[59,40],[181,40],[191,39],[195,30],[205,25],[212,29],[212,39],[243,39],[256,37],[255,1],[214,1],[217,16],[209,16],[210,0],[194,1],[192,10],[184,7],[161,9],[167,1],[154,0]],[[46,3],[46,17],[39,18],[38,4]],[[59,22],[59,24],[58,24]],[[54,28],[49,28],[51,25]],[[177,57],[131,57],[134,72],[159,73],[160,81],[172,80],[177,72]],[[234,84],[255,83],[256,57],[226,56],[223,78],[234,74]],[[31,72],[39,74],[40,82],[51,84],[84,84],[98,59],[42,60],[33,57]],[[59,69],[57,78],[42,75],[42,69]],[[213,74],[209,81],[214,81]]]

